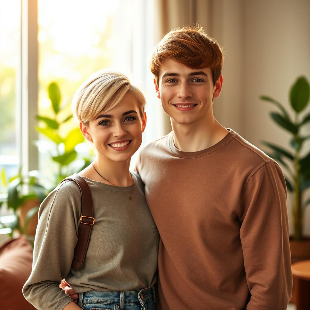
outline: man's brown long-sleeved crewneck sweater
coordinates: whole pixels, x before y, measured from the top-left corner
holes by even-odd
[[[162,309],[286,309],[289,225],[276,162],[229,129],[193,153],[171,132],[141,150],[136,169],[161,235]]]

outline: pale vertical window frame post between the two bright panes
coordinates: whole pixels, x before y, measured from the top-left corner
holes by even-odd
[[[22,174],[38,169],[38,139],[34,120],[38,113],[38,3],[20,0],[20,68],[16,81],[16,135]],[[0,194],[6,201],[7,194]]]

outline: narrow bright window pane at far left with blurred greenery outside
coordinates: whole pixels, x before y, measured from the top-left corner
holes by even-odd
[[[11,177],[20,163],[20,0],[0,0],[0,124],[0,170]],[[5,192],[0,182],[0,199]]]

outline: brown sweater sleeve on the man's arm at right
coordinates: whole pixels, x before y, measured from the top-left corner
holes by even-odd
[[[292,293],[286,184],[280,167],[257,169],[241,193],[240,238],[247,284],[247,310],[285,310]]]

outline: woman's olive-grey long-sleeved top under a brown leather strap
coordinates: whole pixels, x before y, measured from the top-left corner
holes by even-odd
[[[63,309],[72,300],[59,287],[62,279],[76,293],[141,290],[157,280],[159,235],[144,197],[144,186],[133,174],[131,186],[119,188],[83,177],[90,187],[95,224],[83,267],[72,267],[81,216],[81,194],[64,181],[42,202],[36,231],[32,273],[25,298],[40,310]]]

